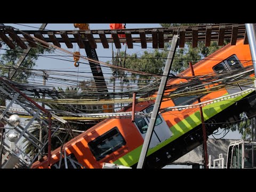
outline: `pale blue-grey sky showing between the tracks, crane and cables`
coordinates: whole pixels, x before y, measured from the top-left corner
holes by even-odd
[[[37,30],[42,23],[4,23],[6,26],[12,26],[14,28],[17,28],[19,30]],[[90,23],[90,29],[96,30],[96,29],[110,29],[109,23]],[[126,29],[133,29],[133,28],[158,28],[161,27],[159,23],[126,23]],[[74,23],[49,23],[47,24],[46,28],[48,30],[76,30],[74,27]],[[79,49],[77,44],[73,44],[73,49],[68,49],[64,43],[61,43],[61,48],[66,49],[71,52],[79,51],[82,55],[85,55],[84,49]],[[140,43],[137,43],[134,45],[140,45]],[[152,43],[147,44],[147,49],[141,49],[140,46],[133,46],[133,49],[127,49],[126,53],[143,53],[144,51],[153,51],[153,49],[150,49],[149,47],[152,47]],[[121,51],[125,50],[125,45],[122,45]],[[101,43],[97,44],[97,54],[100,61],[108,61],[110,58],[102,58],[102,57],[111,57],[112,50],[111,50],[111,44],[109,44],[109,49],[104,49]],[[114,51],[117,51],[114,45]],[[4,52],[3,50],[0,50],[0,52]],[[52,54],[51,54],[52,55]],[[37,66],[36,69],[74,69],[74,63],[73,62],[67,62],[67,61],[61,61],[61,60],[55,60],[51,58],[44,58],[39,57],[37,60]],[[86,69],[85,69],[86,70]],[[88,70],[91,69],[88,67]],[[104,69],[102,68],[103,73]],[[106,75],[104,75],[106,77]],[[219,130],[219,133],[221,133],[223,130]],[[223,131],[220,135],[215,135],[215,138],[221,138],[223,135],[225,135],[226,132]],[[229,131],[229,133],[226,134],[226,139],[241,139],[241,134],[238,132],[232,132]],[[210,135],[210,138],[213,138]]]

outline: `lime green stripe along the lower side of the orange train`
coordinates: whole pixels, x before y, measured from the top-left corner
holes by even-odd
[[[242,98],[244,98],[246,95],[248,95],[250,93],[251,92],[243,94],[236,98],[231,98],[229,100],[212,103],[210,105],[203,107],[204,120],[206,121],[207,119],[211,118],[212,116],[220,113],[220,111],[226,109],[227,107],[231,106],[234,102],[241,100]],[[225,94],[225,95],[227,95],[227,94]],[[190,115],[189,117],[183,119],[179,123],[170,127],[170,129],[173,133],[172,137],[159,143],[159,145],[157,145],[156,147],[149,149],[147,156],[154,153],[158,149],[164,147],[165,145],[172,142],[173,140],[177,139],[182,134],[185,134],[188,131],[192,130],[194,127],[196,127],[199,124],[201,124],[201,116],[200,116],[200,112],[196,111],[196,113]],[[124,166],[132,166],[135,163],[138,163],[141,149],[142,149],[142,145],[139,146],[138,148],[132,150],[130,153],[127,153],[123,157],[117,159],[117,161],[115,161],[114,163],[118,164],[118,165],[124,165]]]

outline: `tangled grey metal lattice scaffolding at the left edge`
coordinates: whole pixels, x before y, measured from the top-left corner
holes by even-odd
[[[15,130],[19,133],[18,139],[15,142],[11,142],[11,144],[9,144],[7,140],[3,141],[3,154],[1,154],[3,157],[1,165],[3,165],[3,167],[9,167],[6,164],[10,162],[8,161],[10,157],[16,157],[20,166],[29,168],[47,145],[48,157],[51,157],[51,137],[54,136],[61,125],[67,125],[67,121],[52,114],[49,110],[39,106],[35,101],[28,98],[26,94],[22,93],[19,89],[12,85],[11,81],[8,81],[3,77],[0,77],[0,95],[2,98],[4,98],[4,100],[7,101],[6,103],[8,103],[5,109],[0,109],[0,121],[5,124],[5,127],[2,127],[2,129]],[[28,119],[26,126],[18,125],[12,127],[12,124],[8,121],[10,115],[7,113],[7,111],[12,107],[13,104],[21,106],[29,115],[33,116],[33,118]],[[55,121],[52,121],[52,117],[54,117]],[[44,141],[39,141],[39,138],[35,137],[35,135],[31,133],[31,129],[29,129],[29,127],[34,121],[37,121],[40,125],[43,125],[46,133],[49,134],[49,137],[46,137]],[[18,144],[24,139],[27,140],[26,142],[30,142],[37,149],[37,154],[30,156],[25,152],[21,144]],[[49,158],[49,163],[50,160],[51,159]]]

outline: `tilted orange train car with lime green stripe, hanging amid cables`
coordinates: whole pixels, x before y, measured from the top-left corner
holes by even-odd
[[[162,101],[161,109],[170,107],[185,106],[179,110],[163,110],[156,119],[155,128],[151,137],[149,150],[145,162],[145,168],[161,168],[188,153],[188,151],[201,145],[203,142],[202,122],[199,108],[186,106],[195,105],[197,97],[201,102],[214,101],[216,98],[223,98],[227,95],[234,95],[228,100],[211,102],[203,106],[204,120],[206,123],[207,135],[210,135],[220,126],[218,123],[232,123],[237,120],[239,114],[246,111],[247,114],[254,114],[255,91],[243,90],[253,86],[254,77],[249,45],[243,41],[237,41],[236,45],[226,45],[214,52],[209,57],[196,63],[194,67],[195,76],[200,81],[191,84],[191,70],[188,68],[177,77],[171,77],[167,82],[165,98]],[[245,71],[239,74],[239,71]],[[216,86],[215,91],[209,91],[213,85],[205,85],[205,92],[197,95],[181,95],[180,97],[166,97],[169,94],[185,93],[189,91],[188,85],[199,86],[207,74],[232,73],[228,83],[239,79],[246,79],[243,84],[235,83],[233,86]],[[223,75],[222,75],[223,76]],[[225,75],[224,75],[225,77]],[[248,80],[248,77],[252,77]],[[190,78],[190,79],[189,79]],[[187,84],[190,82],[190,84]],[[216,85],[226,85],[227,79],[221,79]],[[179,84],[178,88],[173,88]],[[173,86],[172,86],[173,85]],[[200,89],[203,89],[202,86]],[[207,91],[207,89],[209,89]],[[153,94],[152,96],[156,95]],[[139,102],[135,105],[135,111],[150,113],[153,110],[155,100]],[[121,111],[132,111],[132,106],[127,106]],[[105,119],[89,130],[78,135],[65,143],[60,162],[60,148],[52,151],[51,168],[102,168],[103,163],[115,163],[119,165],[137,167],[143,141],[149,124],[149,117],[131,119]],[[66,157],[66,158],[65,158]],[[65,159],[63,159],[65,158]],[[49,168],[47,157],[37,161],[32,168]]]

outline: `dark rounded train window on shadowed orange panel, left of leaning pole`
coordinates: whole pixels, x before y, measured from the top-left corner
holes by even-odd
[[[90,141],[88,146],[97,161],[113,153],[117,149],[126,145],[122,134],[114,127],[110,131],[100,135],[98,138]]]

